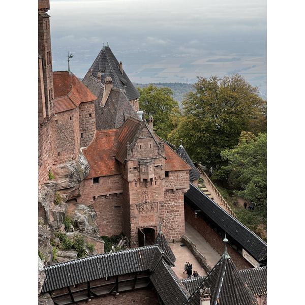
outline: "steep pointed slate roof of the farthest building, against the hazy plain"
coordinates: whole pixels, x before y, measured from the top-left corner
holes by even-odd
[[[101,80],[103,84],[106,77],[111,77],[113,81],[113,86],[115,88],[125,90],[126,96],[129,100],[137,99],[140,96],[138,90],[130,81],[124,69],[123,74],[120,72],[119,62],[115,58],[109,46],[102,48],[90,69],[92,70],[92,73],[90,70],[88,71],[88,73],[83,79],[84,83],[87,82],[87,79],[90,77],[90,74],[92,74],[97,79],[98,73],[101,70],[104,70],[105,73],[101,74]]]

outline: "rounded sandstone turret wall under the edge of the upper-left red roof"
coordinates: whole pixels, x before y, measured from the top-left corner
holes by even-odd
[[[79,134],[80,147],[86,147],[93,140],[96,132],[94,102],[80,103],[79,105]]]

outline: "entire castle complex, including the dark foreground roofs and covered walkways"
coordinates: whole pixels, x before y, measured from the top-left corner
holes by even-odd
[[[49,0],[39,0],[39,217],[60,229],[67,211],[83,203],[96,213],[96,235],[123,232],[132,249],[103,254],[97,241],[98,255],[44,267],[41,291],[55,304],[262,303],[266,267],[238,271],[227,250],[207,277],[177,279],[168,241],[180,240],[185,219],[219,240],[222,224],[216,228],[212,217],[221,216],[236,245],[262,262],[266,245],[196,188],[199,174],[186,151],[154,133],[153,117],[143,118],[139,94],[109,46],[82,82],[70,69],[52,71],[48,10]],[[54,204],[57,194],[65,204]],[[209,221],[194,220],[198,207],[211,209]]]

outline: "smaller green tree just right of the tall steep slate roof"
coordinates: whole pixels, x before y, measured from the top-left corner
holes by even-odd
[[[154,118],[154,132],[162,139],[173,129],[173,116],[179,112],[178,102],[171,97],[172,91],[168,87],[157,88],[150,84],[147,88],[140,89],[139,107],[145,111],[145,118],[149,115]]]

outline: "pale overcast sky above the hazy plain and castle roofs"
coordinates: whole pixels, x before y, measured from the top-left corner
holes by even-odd
[[[53,70],[68,69],[69,51],[78,77],[103,43],[124,64],[164,54],[266,55],[266,0],[50,0],[48,14]]]

